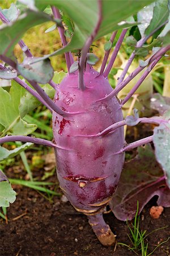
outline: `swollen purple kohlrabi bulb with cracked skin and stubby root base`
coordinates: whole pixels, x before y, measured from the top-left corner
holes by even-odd
[[[78,212],[89,218],[99,241],[112,245],[115,236],[102,216],[104,207],[112,199],[124,164],[124,129],[95,136],[106,127],[122,121],[122,110],[116,96],[97,101],[112,92],[103,75],[90,68],[84,72],[85,90],[78,89],[78,74],[68,74],[59,85],[54,102],[66,112],[80,112],[61,116],[53,112],[54,143],[57,176],[65,196]]]

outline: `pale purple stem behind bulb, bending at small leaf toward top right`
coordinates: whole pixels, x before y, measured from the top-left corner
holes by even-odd
[[[153,30],[150,35],[146,36],[145,38],[141,38],[141,39],[137,42],[136,48],[142,47],[143,44],[147,41],[147,39],[150,38],[150,36],[152,36],[156,31],[158,31],[159,28],[163,27],[167,22],[168,22],[168,20],[166,20],[166,21],[165,21],[163,24],[161,24],[159,27],[155,28],[155,30]],[[135,51],[133,51],[133,53],[131,53],[131,55],[130,55],[130,57],[129,57],[129,60],[128,60],[128,62],[126,63],[126,66],[125,66],[124,70],[122,71],[120,78],[118,79],[117,86],[120,85],[121,82],[124,80],[124,78],[125,78],[125,76],[126,76],[126,73],[128,72],[128,69],[129,69],[131,63],[132,63],[132,61],[134,60],[134,57],[135,57]]]

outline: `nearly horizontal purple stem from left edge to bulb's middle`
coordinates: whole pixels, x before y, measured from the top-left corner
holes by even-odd
[[[22,141],[22,142],[31,142],[35,144],[41,144],[48,147],[57,147],[56,144],[52,143],[51,141],[47,141],[46,139],[39,139],[39,138],[33,138],[29,136],[6,136],[3,138],[0,138],[0,144],[5,142],[11,142],[11,141]]]

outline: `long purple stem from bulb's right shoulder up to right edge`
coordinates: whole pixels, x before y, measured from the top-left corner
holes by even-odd
[[[156,58],[158,58],[159,56],[163,56],[165,54],[165,52],[167,52],[170,49],[170,45],[161,48],[158,52],[155,53],[155,55],[153,55],[149,61],[149,64],[154,61]],[[114,97],[118,92],[120,92],[121,89],[123,89],[126,84],[128,84],[128,82],[130,82],[135,76],[138,75],[138,73],[140,73],[145,67],[138,67],[136,68],[132,73],[130,73],[130,75],[121,82],[120,85],[118,85],[110,94],[108,94],[107,96],[105,96],[104,98],[100,98],[97,101],[102,101],[102,100],[109,100],[110,98]]]

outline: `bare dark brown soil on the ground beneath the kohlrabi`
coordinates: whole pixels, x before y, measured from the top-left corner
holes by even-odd
[[[23,173],[25,175],[25,172]],[[16,177],[11,171],[7,171],[7,175]],[[49,180],[55,181],[56,176],[50,177]],[[117,245],[116,251],[113,246],[102,246],[88,224],[87,217],[76,212],[69,202],[63,203],[57,196],[47,200],[33,189],[19,185],[13,187],[18,196],[7,210],[8,224],[2,218],[0,220],[1,256],[136,255],[125,246]],[[160,218],[154,220],[149,214],[152,205],[156,205],[156,197],[143,209],[140,229],[150,233],[165,226],[167,228],[158,230],[146,238],[147,255],[169,237],[170,208],[164,208]],[[112,212],[104,214],[104,218],[117,235],[117,241],[130,245],[126,222],[117,220]],[[169,241],[159,246],[152,255],[170,255]]]

